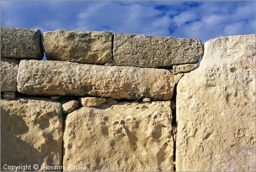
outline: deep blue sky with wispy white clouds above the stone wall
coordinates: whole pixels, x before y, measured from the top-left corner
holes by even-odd
[[[2,1],[1,26],[208,39],[255,33],[254,1]]]

